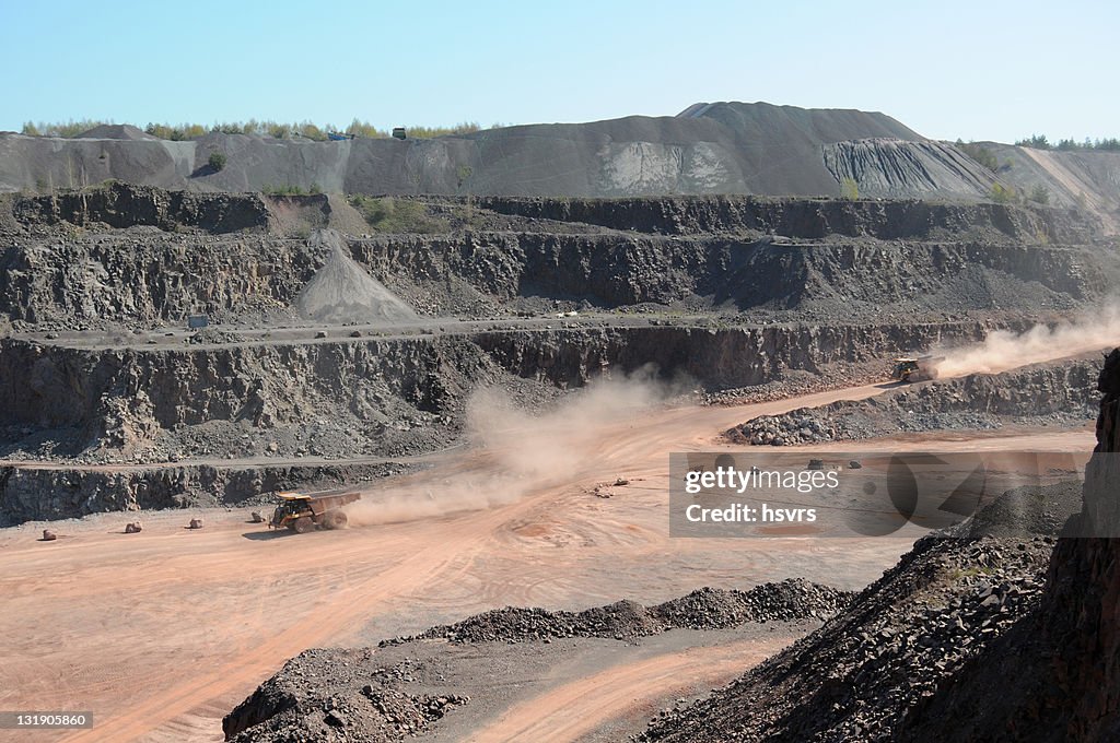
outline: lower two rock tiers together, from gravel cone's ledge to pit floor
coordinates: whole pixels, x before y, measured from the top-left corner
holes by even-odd
[[[0,521],[174,507],[206,493],[240,502],[278,487],[261,474],[271,471],[265,467],[250,474],[128,462],[440,449],[459,435],[466,399],[479,385],[497,385],[514,399],[524,391],[539,404],[544,389],[653,365],[689,388],[743,387],[792,370],[876,360],[884,348],[983,332],[978,323],[633,327],[97,351],[3,340],[0,452],[69,459],[4,469]],[[80,463],[97,467],[80,470]],[[282,474],[299,481],[307,470]]]

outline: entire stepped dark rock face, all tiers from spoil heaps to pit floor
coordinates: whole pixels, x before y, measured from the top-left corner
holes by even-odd
[[[7,476],[3,517],[204,492],[206,477],[169,486],[147,463],[442,449],[479,385],[539,405],[646,365],[711,394],[791,376],[855,383],[893,352],[1020,330],[1025,316],[1080,310],[1120,282],[1096,223],[1061,210],[429,199],[418,204],[442,233],[293,237],[357,215],[332,198],[116,184],[0,199],[0,457],[75,467]],[[394,297],[468,322],[309,326],[408,317]],[[190,314],[212,327],[185,336]],[[64,481],[121,463],[137,468]],[[233,502],[245,481],[230,482],[213,485]]]

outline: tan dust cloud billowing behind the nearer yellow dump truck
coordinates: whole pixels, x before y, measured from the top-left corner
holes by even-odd
[[[646,373],[599,379],[556,407],[515,406],[500,389],[482,388],[467,403],[463,453],[384,491],[368,492],[346,511],[352,524],[372,525],[437,517],[513,502],[529,492],[571,481],[600,455],[614,432],[638,425],[643,412],[672,388]]]

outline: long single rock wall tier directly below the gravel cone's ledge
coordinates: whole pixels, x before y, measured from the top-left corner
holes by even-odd
[[[818,372],[983,332],[980,323],[631,327],[183,350],[84,350],[8,339],[0,340],[0,426],[103,434],[113,427],[111,401],[120,401],[127,416],[162,429],[212,420],[265,425],[314,416],[325,398],[356,406],[373,389],[439,412],[469,379],[492,376],[492,365],[563,386],[605,369],[653,365],[711,388],[741,387],[790,369]]]

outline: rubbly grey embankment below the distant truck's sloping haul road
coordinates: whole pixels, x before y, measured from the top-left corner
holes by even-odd
[[[921,431],[1081,425],[1096,407],[1099,361],[1083,359],[899,386],[860,402],[764,416],[729,430],[732,442],[793,445]]]

